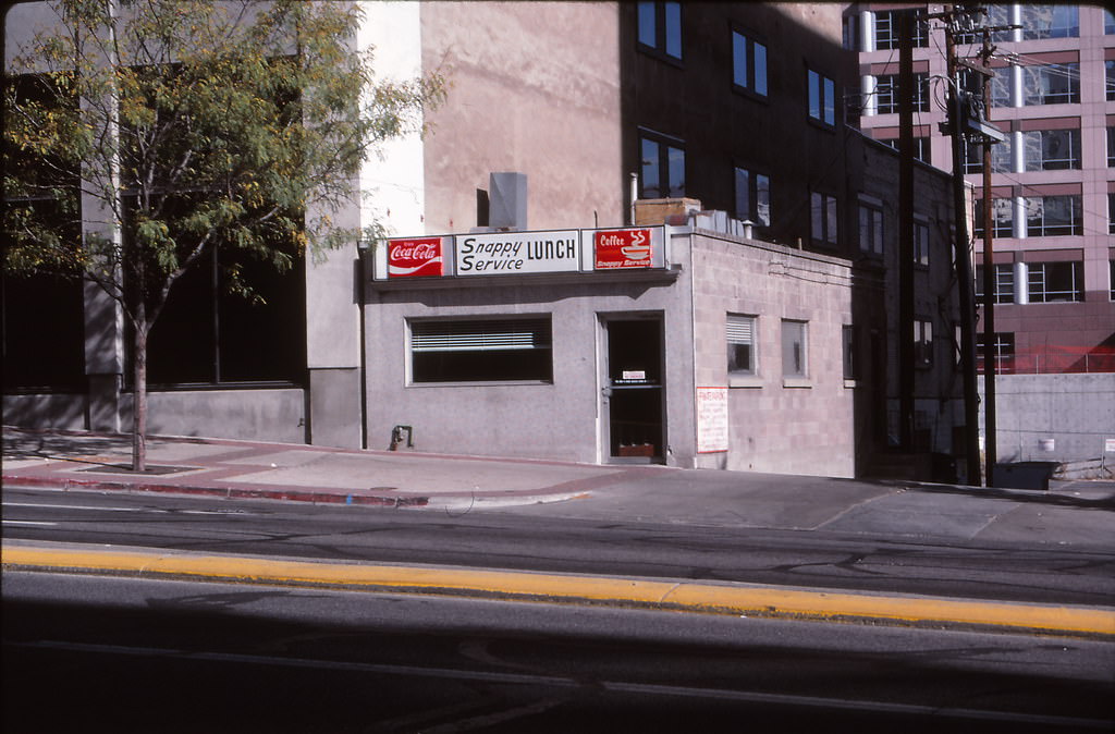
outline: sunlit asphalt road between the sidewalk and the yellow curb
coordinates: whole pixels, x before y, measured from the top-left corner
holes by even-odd
[[[524,513],[3,492],[6,539],[1107,606],[1115,550]]]

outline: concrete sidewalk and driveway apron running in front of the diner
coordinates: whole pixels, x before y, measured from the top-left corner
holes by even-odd
[[[129,463],[127,435],[3,428],[4,486],[1115,547],[1113,482],[1001,490],[171,436],[149,438],[147,474]]]

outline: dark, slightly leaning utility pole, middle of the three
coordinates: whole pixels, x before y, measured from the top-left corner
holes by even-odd
[[[946,6],[944,12],[931,17],[944,19],[944,50],[949,73],[949,134],[952,136],[953,245],[957,288],[960,291],[960,370],[964,394],[964,465],[967,482],[982,484],[979,456],[979,393],[976,379],[976,308],[975,279],[971,268],[971,243],[968,236],[968,207],[964,197],[964,125],[960,68],[957,60],[956,35],[963,9]]]

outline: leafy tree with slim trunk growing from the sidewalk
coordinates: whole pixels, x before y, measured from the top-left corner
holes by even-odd
[[[147,337],[175,282],[219,245],[285,271],[351,243],[330,215],[378,144],[421,129],[444,83],[377,78],[350,2],[50,6],[56,26],[6,70],[4,268],[83,277],[119,303],[142,472]],[[225,276],[259,298],[235,265]]]

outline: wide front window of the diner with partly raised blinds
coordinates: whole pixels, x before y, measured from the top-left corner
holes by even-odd
[[[410,322],[411,383],[552,382],[550,317]]]

